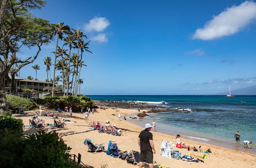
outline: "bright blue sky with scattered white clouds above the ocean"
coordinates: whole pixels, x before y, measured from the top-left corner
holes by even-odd
[[[91,40],[81,94],[198,95],[256,85],[255,1],[54,0],[32,13]],[[55,45],[42,46],[20,77],[35,76],[39,64],[37,78],[45,80],[43,59],[54,60]]]

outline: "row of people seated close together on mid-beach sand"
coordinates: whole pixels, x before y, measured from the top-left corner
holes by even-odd
[[[97,124],[93,122],[94,129],[98,130],[100,133],[109,133],[113,135],[123,135],[123,130],[117,128],[116,124],[111,126],[110,121],[106,121],[106,124],[100,124],[98,121]]]

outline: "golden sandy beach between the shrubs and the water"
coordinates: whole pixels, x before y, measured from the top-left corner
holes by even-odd
[[[134,167],[132,164],[127,163],[125,160],[113,158],[106,155],[104,152],[90,153],[88,152],[88,147],[83,145],[84,139],[89,138],[95,144],[103,143],[105,148],[108,147],[109,141],[115,141],[118,148],[122,151],[139,150],[137,144],[137,137],[139,132],[143,129],[135,124],[132,124],[123,119],[119,120],[117,115],[120,113],[122,118],[124,115],[131,115],[137,113],[136,109],[121,109],[121,108],[108,108],[108,109],[98,109],[98,112],[93,115],[90,114],[89,122],[86,123],[84,120],[84,114],[73,113],[73,117],[69,117],[69,113],[63,112],[58,113],[57,111],[52,111],[54,115],[63,117],[65,119],[71,120],[74,123],[67,123],[65,128],[53,128],[56,132],[60,133],[63,139],[66,140],[66,144],[72,148],[71,154],[81,154],[81,161],[83,163],[92,165],[94,167],[100,167],[101,164],[108,164],[108,167]],[[114,116],[114,115],[115,116]],[[29,119],[35,115],[35,111],[26,111],[25,115],[13,115],[15,118],[20,118],[23,120],[24,125],[29,125]],[[53,124],[53,120],[47,117],[41,117],[46,121],[46,123]],[[111,125],[116,124],[118,128],[123,129],[123,136],[114,136],[106,133],[98,133],[96,130],[90,129],[93,121],[99,121],[105,124],[106,120],[110,121]],[[34,133],[38,128],[25,127],[24,133]],[[191,155],[196,159],[200,158],[204,160],[204,163],[188,162],[183,160],[170,159],[160,155],[160,145],[162,140],[175,142],[175,137],[166,135],[159,132],[153,133],[153,139],[156,149],[156,154],[154,155],[154,160],[157,164],[167,165],[170,167],[255,167],[256,166],[256,156],[253,154],[248,154],[244,152],[239,152],[235,150],[230,150],[218,146],[198,143],[194,141],[188,141],[182,138],[183,143],[189,146],[202,146],[202,148],[209,147],[214,154],[206,154],[207,158],[202,159],[204,153],[187,151],[186,149],[178,149],[172,147],[173,150],[179,150],[181,154],[191,153]],[[137,165],[138,166],[138,165]],[[137,167],[135,166],[135,167]]]

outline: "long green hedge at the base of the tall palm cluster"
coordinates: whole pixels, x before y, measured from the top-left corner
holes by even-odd
[[[84,95],[77,96],[48,96],[42,99],[51,108],[64,108],[65,106],[93,107],[94,101]]]

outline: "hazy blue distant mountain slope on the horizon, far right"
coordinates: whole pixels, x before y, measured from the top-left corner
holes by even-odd
[[[217,93],[216,95],[227,95],[229,94],[229,91]],[[240,88],[231,90],[231,95],[256,95],[256,85],[246,87],[246,88]]]

